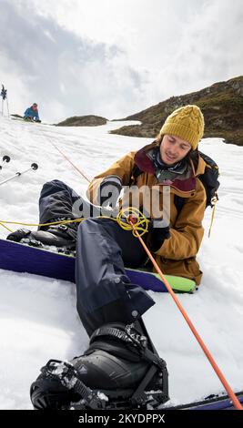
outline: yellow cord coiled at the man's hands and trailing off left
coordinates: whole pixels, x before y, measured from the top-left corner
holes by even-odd
[[[147,233],[148,229],[148,223],[149,220],[144,216],[144,214],[139,211],[139,209],[128,207],[127,209],[120,210],[118,212],[118,215],[116,219],[108,216],[98,216],[99,219],[111,219],[113,221],[116,221],[117,224],[125,230],[132,230],[133,235],[136,236],[135,230],[139,232],[140,236],[143,236],[145,233]],[[134,228],[130,225],[131,219],[134,219]],[[13,230],[7,228],[5,224],[15,224],[20,226],[33,226],[33,227],[43,227],[43,226],[51,226],[54,224],[69,224],[69,223],[81,223],[86,219],[67,219],[67,220],[61,220],[61,221],[52,221],[49,223],[25,223],[22,221],[8,221],[8,220],[0,220],[0,226],[3,226],[5,229],[7,229],[10,232],[13,232]],[[134,230],[135,229],[135,230]]]

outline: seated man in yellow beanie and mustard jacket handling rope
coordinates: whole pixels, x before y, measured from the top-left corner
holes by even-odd
[[[108,200],[115,208],[123,186],[132,184],[139,190],[147,185],[150,192],[158,186],[160,205],[163,187],[169,186],[170,225],[157,222],[148,204],[147,217],[151,221],[147,245],[164,273],[193,279],[197,284],[202,272],[196,255],[203,238],[206,207],[206,191],[198,179],[206,168],[197,152],[203,131],[204,118],[197,106],[178,108],[167,117],[154,143],[119,159],[94,178],[88,188],[91,202],[105,206]],[[177,197],[184,200],[181,207],[177,206]],[[80,217],[73,209],[76,204],[79,209],[82,206],[81,210],[91,209],[90,218],[79,227],[70,223],[37,231],[17,230],[8,239],[37,239],[57,247],[76,245],[77,311],[91,340],[85,354],[72,360],[72,364],[79,379],[90,388],[135,390],[153,363],[141,357],[132,342],[127,344],[126,326],[133,324],[133,335],[137,332],[140,338],[147,336],[141,316],[155,302],[128,280],[125,266],[141,266],[146,254],[131,231],[121,229],[112,219],[96,218],[100,214],[98,207],[89,205],[59,180],[46,183],[42,189],[40,223]],[[147,339],[147,347],[153,352]],[[147,388],[159,388],[156,374]],[[32,402],[35,408],[61,408],[76,400],[71,392],[44,370],[33,383]]]

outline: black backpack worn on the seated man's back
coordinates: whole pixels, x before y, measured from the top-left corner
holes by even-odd
[[[204,188],[206,190],[206,209],[207,207],[213,208],[216,201],[218,200],[218,194],[217,190],[219,188],[219,171],[218,171],[218,165],[217,163],[212,159],[209,158],[209,156],[205,155],[204,153],[198,151],[198,154],[206,163],[206,168],[204,171],[204,174],[197,176],[202,184],[204,185]],[[137,167],[137,165],[134,165],[134,168],[132,170],[132,177],[137,178],[140,174],[142,174],[143,171]],[[180,196],[175,195],[174,203],[177,208],[177,212],[179,213],[185,203],[185,199],[181,198]]]

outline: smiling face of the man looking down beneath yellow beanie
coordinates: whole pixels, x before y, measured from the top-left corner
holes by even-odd
[[[160,156],[167,165],[173,165],[185,158],[190,151],[191,145],[185,139],[164,135],[160,144]]]

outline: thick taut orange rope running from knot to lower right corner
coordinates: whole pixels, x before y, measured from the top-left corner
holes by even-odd
[[[202,348],[203,352],[207,356],[208,361],[210,362],[210,364],[212,365],[214,371],[218,375],[218,378],[219,378],[220,382],[222,382],[224,388],[228,392],[228,396],[232,400],[232,403],[234,404],[235,408],[238,409],[238,410],[243,410],[242,405],[238,401],[238,397],[233,392],[232,388],[229,386],[229,384],[228,384],[225,376],[220,371],[217,362],[215,362],[215,360],[213,359],[211,353],[208,351],[208,348],[207,348],[206,344],[204,343],[204,341],[202,340],[202,338],[198,334],[198,332],[197,332],[196,328],[194,327],[192,321],[190,321],[189,317],[187,316],[187,312],[184,310],[183,306],[178,301],[177,296],[176,296],[175,292],[171,289],[170,285],[168,284],[167,279],[165,278],[165,275],[163,274],[162,270],[159,269],[159,267],[157,265],[157,262],[153,258],[151,252],[147,249],[147,245],[145,244],[144,240],[139,236],[139,233],[137,232],[136,228],[134,227],[133,222],[129,221],[129,223],[131,224],[132,228],[134,229],[134,232],[135,232],[137,238],[140,240],[142,246],[146,250],[148,257],[152,261],[155,269],[157,270],[157,273],[160,275],[161,280],[163,280],[165,286],[167,287],[167,290],[168,290],[169,294],[171,295],[172,299],[175,301],[175,303],[177,305],[177,308],[179,309],[179,311],[181,312],[182,316],[187,321],[187,324],[188,324],[190,330],[193,332],[194,336],[196,337],[197,342],[199,343],[199,345]]]

